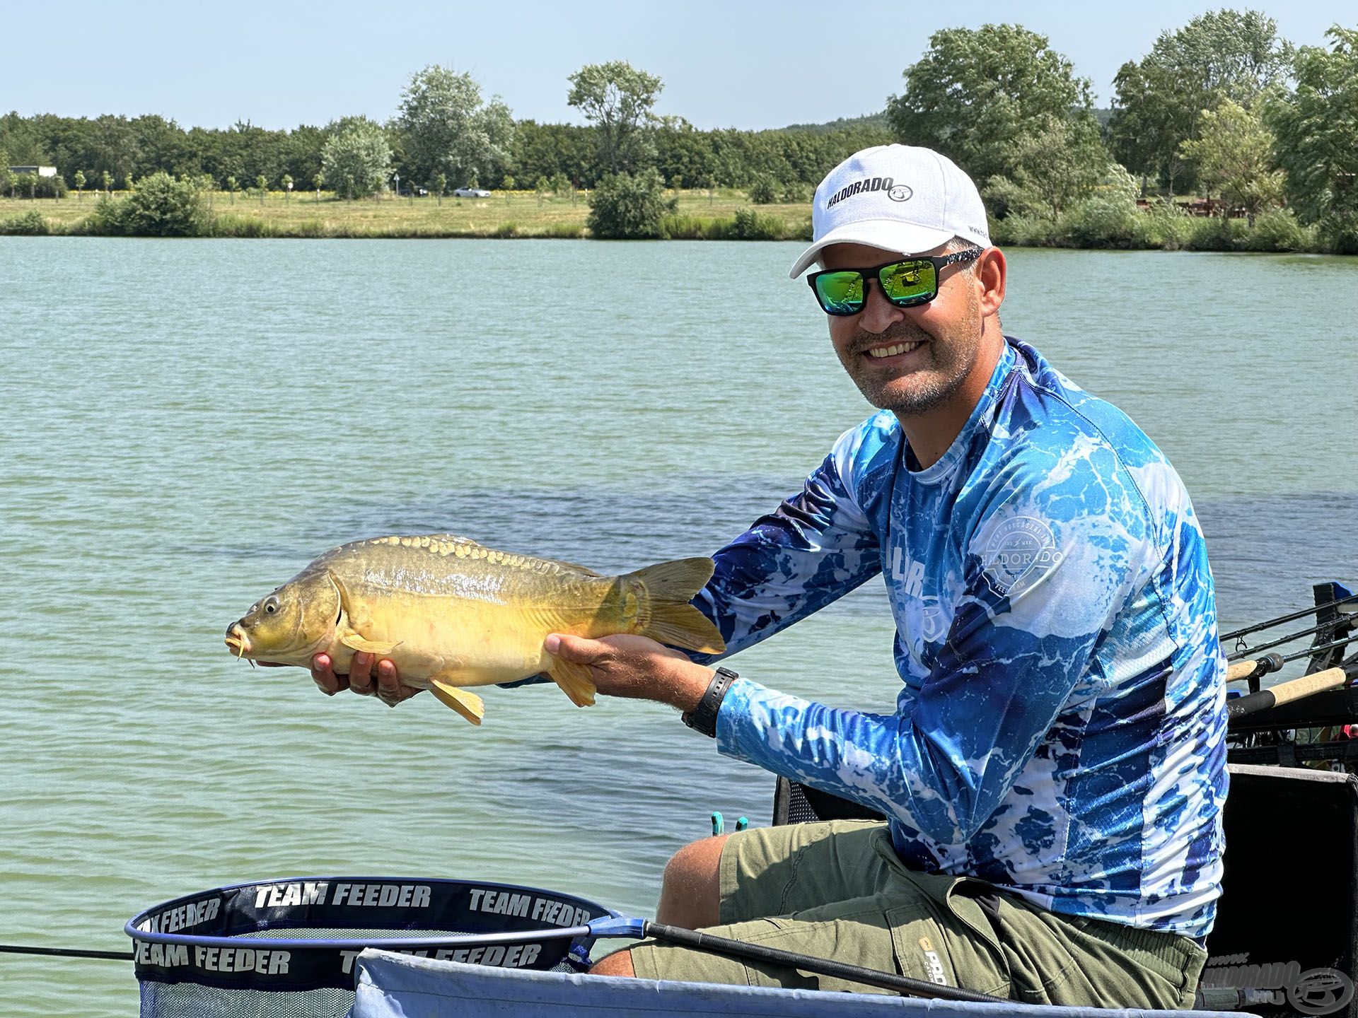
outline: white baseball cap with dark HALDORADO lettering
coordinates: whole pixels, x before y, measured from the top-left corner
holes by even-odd
[[[797,278],[830,244],[869,244],[921,254],[960,236],[990,247],[976,185],[947,156],[915,145],[854,152],[816,187],[812,244],[789,276]]]

